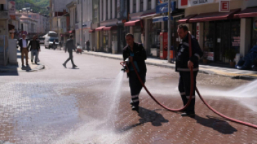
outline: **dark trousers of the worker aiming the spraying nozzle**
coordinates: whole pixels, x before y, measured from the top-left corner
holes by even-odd
[[[145,75],[146,73],[139,73],[142,82],[145,83]],[[138,80],[138,76],[136,75],[135,71],[129,71],[128,73],[129,79],[129,87],[131,88],[131,100],[133,101],[133,105],[139,105],[139,94],[142,89],[142,84],[140,80]]]

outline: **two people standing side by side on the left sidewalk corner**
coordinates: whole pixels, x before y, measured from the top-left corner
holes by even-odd
[[[31,63],[33,63],[34,55],[35,55],[35,64],[38,64],[40,61],[38,58],[40,49],[40,42],[38,39],[38,35],[34,35],[33,39],[26,39],[26,35],[22,35],[22,39],[19,39],[19,48],[22,53],[22,67],[24,67],[24,55],[26,60],[26,66],[28,67],[28,52],[31,51]]]

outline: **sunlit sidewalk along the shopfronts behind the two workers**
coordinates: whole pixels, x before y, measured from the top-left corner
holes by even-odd
[[[107,58],[123,61],[122,54],[111,54],[111,53],[102,53],[102,52],[94,52],[94,51],[90,51],[90,52],[84,51],[83,53],[85,53],[86,55],[107,57]],[[147,58],[146,64],[161,66],[169,69],[175,69],[175,64],[168,63],[167,60]],[[245,78],[245,79],[257,78],[256,71],[229,69],[229,68],[223,68],[219,66],[208,66],[208,65],[201,65],[201,64],[200,64],[199,73],[206,73],[211,75],[223,75],[231,78]]]

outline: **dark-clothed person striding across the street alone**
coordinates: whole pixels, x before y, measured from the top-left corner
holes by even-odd
[[[65,61],[65,63],[63,64],[63,66],[65,66],[66,68],[66,64],[67,62],[69,62],[69,60],[72,61],[72,68],[76,68],[77,66],[74,64],[73,62],[73,55],[72,55],[72,50],[74,50],[76,52],[76,46],[74,45],[73,42],[73,35],[69,35],[69,39],[67,39],[66,45],[65,45],[65,53],[68,51],[69,53],[69,58]]]

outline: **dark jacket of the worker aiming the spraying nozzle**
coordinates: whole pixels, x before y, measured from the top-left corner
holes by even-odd
[[[145,60],[147,60],[147,53],[144,50],[144,47],[142,46],[142,44],[134,42],[133,53],[134,53],[133,61],[136,61],[138,63],[138,69],[140,69],[140,73],[147,73],[147,65],[144,62]],[[130,55],[131,55],[131,48],[129,48],[129,46],[127,45],[123,48],[123,60],[125,61]],[[129,76],[129,73],[128,73],[128,76]]]

